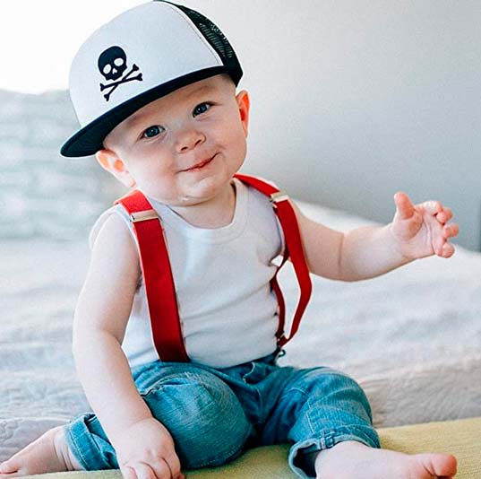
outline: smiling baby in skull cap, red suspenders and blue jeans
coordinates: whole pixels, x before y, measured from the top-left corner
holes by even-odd
[[[135,192],[94,225],[75,310],[73,355],[93,413],[5,461],[1,479],[108,468],[178,479],[279,443],[303,478],[456,474],[449,455],[380,449],[365,394],[345,374],[277,365],[287,340],[273,263],[290,254],[305,292],[308,272],[357,281],[451,257],[450,209],[397,193],[390,224],[341,233],[237,175],[249,120],[241,76],[212,22],[164,1],[122,13],[74,58],[82,128],[62,153],[95,153]]]

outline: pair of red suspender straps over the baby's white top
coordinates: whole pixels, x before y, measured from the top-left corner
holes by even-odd
[[[264,195],[270,196],[272,206],[278,215],[284,232],[285,254],[276,274],[271,279],[271,287],[276,293],[279,303],[279,328],[276,336],[281,347],[296,334],[312,290],[296,215],[292,205],[288,202],[288,196],[279,192],[278,188],[262,179],[247,175],[237,174],[236,178],[256,188]],[[142,274],[149,304],[152,335],[159,358],[162,361],[189,361],[185,352],[178,316],[176,287],[159,216],[139,190],[133,190],[128,195],[119,198],[116,200],[117,203],[124,206],[133,222],[133,231],[135,231],[139,245]],[[300,296],[290,334],[286,337],[284,335],[286,308],[276,277],[288,257],[291,258],[294,266]]]

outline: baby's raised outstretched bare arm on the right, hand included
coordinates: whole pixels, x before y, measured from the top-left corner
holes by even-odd
[[[309,269],[314,274],[357,281],[387,273],[419,257],[451,257],[449,239],[458,234],[449,208],[439,202],[412,205],[408,196],[394,197],[391,223],[342,233],[305,217],[294,205]]]

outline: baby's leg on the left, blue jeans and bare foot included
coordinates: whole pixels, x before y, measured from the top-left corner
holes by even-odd
[[[146,368],[136,384],[152,415],[172,434],[183,468],[223,464],[242,452],[253,433],[234,393],[206,370],[181,363]],[[116,451],[99,419],[84,414],[6,461],[0,479],[116,468]]]

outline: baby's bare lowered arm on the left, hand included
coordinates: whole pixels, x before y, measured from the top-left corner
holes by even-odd
[[[90,405],[127,478],[182,477],[174,441],[152,417],[121,348],[141,274],[125,222],[108,217],[92,250],[73,321],[73,356]]]

